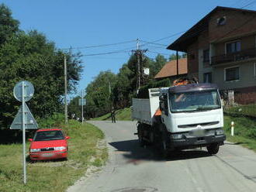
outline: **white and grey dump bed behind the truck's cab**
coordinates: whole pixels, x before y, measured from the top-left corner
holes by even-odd
[[[160,88],[152,88],[148,90],[149,98],[133,98],[132,118],[138,122],[148,125],[153,124],[154,113],[159,108],[159,92]]]

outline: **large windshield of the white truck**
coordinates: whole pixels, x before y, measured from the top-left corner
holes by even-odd
[[[171,112],[206,111],[220,108],[218,91],[194,91],[170,96]]]

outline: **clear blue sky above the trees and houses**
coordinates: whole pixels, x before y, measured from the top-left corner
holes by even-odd
[[[12,16],[20,22],[20,29],[26,32],[36,29],[57,48],[72,47],[74,53],[85,55],[81,57],[84,70],[78,91],[85,89],[100,71],[117,74],[131,50],[137,48],[137,39],[140,48],[147,49],[147,57],[155,58],[161,53],[168,58],[172,52],[166,47],[216,6],[256,9],[253,0],[0,0],[0,3],[9,6]],[[161,45],[143,46],[144,41]],[[76,49],[114,43],[119,44]],[[120,50],[123,53],[86,56]]]

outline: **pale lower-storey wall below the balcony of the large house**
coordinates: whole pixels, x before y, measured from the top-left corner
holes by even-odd
[[[220,90],[223,90],[223,89],[235,90],[237,88],[243,88],[243,87],[255,87],[256,86],[256,77],[254,74],[255,61],[236,63],[230,66],[215,67],[213,69],[213,83],[217,84]],[[227,67],[240,67],[239,69],[240,77],[238,81],[225,81],[224,73],[225,73],[225,68]]]

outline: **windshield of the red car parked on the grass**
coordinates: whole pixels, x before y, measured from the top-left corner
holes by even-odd
[[[36,132],[34,141],[50,141],[64,139],[64,135],[60,130]]]

